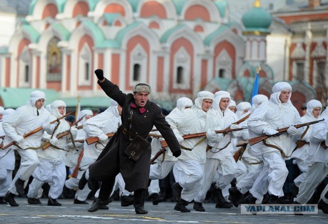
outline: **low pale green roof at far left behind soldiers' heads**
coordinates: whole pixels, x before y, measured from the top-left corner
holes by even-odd
[[[30,93],[40,90],[46,94],[46,102],[52,102],[59,99],[59,93],[53,89],[31,89],[31,88],[0,88],[0,99],[2,100],[4,108],[16,109],[20,106],[26,105],[30,99]]]

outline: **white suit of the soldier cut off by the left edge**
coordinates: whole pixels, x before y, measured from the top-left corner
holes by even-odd
[[[14,109],[6,109],[0,107],[0,114],[3,114],[2,120],[0,120],[0,136],[5,135],[2,128],[2,123],[6,120],[6,117],[13,113]],[[0,144],[3,143],[3,139],[0,139]],[[4,197],[8,192],[10,182],[12,180],[12,171],[15,169],[15,153],[13,149],[0,149],[0,197]]]

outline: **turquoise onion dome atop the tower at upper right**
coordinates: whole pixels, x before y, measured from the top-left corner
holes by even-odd
[[[242,16],[242,23],[246,30],[251,29],[268,29],[272,22],[272,17],[269,12],[265,11],[262,7],[253,7],[245,12]]]

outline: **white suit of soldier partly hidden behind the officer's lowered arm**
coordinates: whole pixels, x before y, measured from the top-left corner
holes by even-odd
[[[173,116],[180,111],[184,111],[186,107],[192,107],[193,101],[187,97],[181,97],[176,101],[176,108],[174,108],[167,117]],[[154,134],[160,134],[158,131],[153,132]],[[160,141],[164,140],[163,138],[153,138],[151,142],[152,146],[152,156],[154,156],[159,149],[161,149]],[[173,156],[169,147],[166,147],[166,152],[160,155],[156,160],[155,164],[150,165],[149,179],[151,179],[150,186],[148,187],[149,195],[154,193],[159,193],[158,179],[165,178],[173,169],[176,161],[178,160]],[[154,181],[156,180],[156,181]]]

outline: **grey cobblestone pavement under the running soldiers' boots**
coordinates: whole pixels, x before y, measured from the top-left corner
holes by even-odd
[[[61,207],[47,206],[47,199],[41,198],[42,205],[29,205],[27,198],[15,198],[19,207],[0,205],[0,223],[323,223],[327,215],[321,210],[315,215],[295,216],[280,215],[244,215],[240,214],[240,206],[231,209],[216,209],[214,203],[204,203],[206,212],[195,212],[189,205],[190,213],[173,210],[174,202],[161,202],[153,206],[147,201],[146,215],[136,215],[133,206],[121,207],[119,201],[109,204],[109,210],[90,213],[89,205],[73,204],[73,199],[59,199]]]

